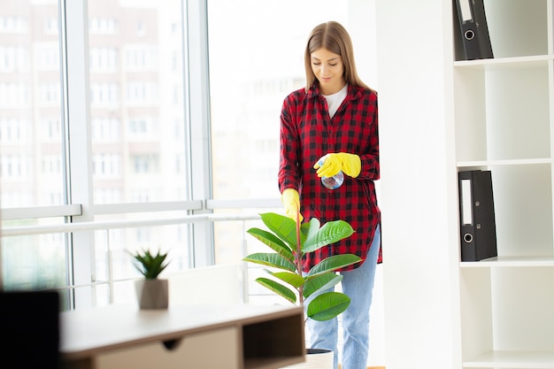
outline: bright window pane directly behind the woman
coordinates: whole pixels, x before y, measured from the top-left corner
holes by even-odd
[[[347,27],[348,4],[208,1],[214,199],[281,198],[281,104],[305,85],[304,46],[312,28],[327,20]],[[240,205],[235,211],[248,211]],[[241,260],[244,250],[237,242],[244,232],[241,224],[216,224],[218,263]]]

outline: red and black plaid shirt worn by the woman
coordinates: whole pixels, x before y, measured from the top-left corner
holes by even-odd
[[[336,189],[325,188],[313,169],[319,158],[331,152],[357,154],[362,163],[358,177],[345,174],[344,183]],[[298,190],[304,221],[317,218],[323,225],[330,220],[342,219],[356,231],[341,242],[307,255],[305,272],[335,254],[352,253],[365,259],[375,228],[381,222],[373,182],[379,178],[375,91],[349,85],[348,93],[332,119],[326,99],[319,94],[317,81],[309,91],[301,88],[285,98],[281,109],[281,192],[286,188]],[[381,252],[378,262],[381,263]]]

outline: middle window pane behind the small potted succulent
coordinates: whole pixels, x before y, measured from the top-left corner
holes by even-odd
[[[125,204],[190,200],[183,8],[181,0],[88,2],[95,205],[125,209]],[[103,221],[151,218],[149,211],[95,214]],[[187,224],[96,232],[96,281],[121,281],[113,285],[114,300],[132,298],[128,280],[137,274],[128,251],[169,250],[167,270],[187,268],[188,234]],[[112,293],[105,287],[96,292],[98,300]]]

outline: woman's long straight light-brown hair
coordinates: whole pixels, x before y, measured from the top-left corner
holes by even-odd
[[[312,52],[321,48],[340,55],[344,65],[344,80],[351,86],[369,88],[358,77],[356,63],[354,61],[354,49],[350,35],[338,22],[328,21],[321,23],[312,29],[304,53],[304,67],[306,69],[306,91],[316,81],[312,71]]]

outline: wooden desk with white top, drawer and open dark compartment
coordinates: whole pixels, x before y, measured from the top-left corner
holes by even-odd
[[[291,306],[133,305],[65,311],[60,350],[72,369],[276,369],[304,361],[304,314]]]

